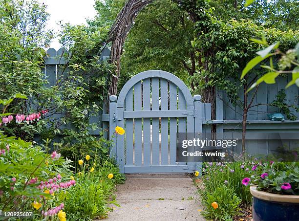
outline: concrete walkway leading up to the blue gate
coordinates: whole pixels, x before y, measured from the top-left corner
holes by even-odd
[[[111,221],[204,221],[196,187],[186,175],[127,175],[117,186]]]

